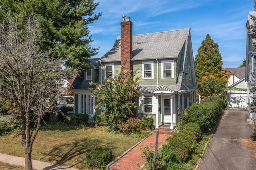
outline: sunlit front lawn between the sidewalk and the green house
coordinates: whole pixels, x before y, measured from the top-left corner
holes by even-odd
[[[32,159],[84,169],[86,152],[100,146],[108,147],[117,158],[144,137],[112,134],[104,127],[90,125],[80,129],[58,124],[47,125],[41,127],[36,136]],[[0,143],[1,153],[24,157],[21,136],[2,136]]]

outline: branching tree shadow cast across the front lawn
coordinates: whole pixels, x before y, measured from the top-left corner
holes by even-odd
[[[99,147],[100,144],[102,144],[102,140],[92,140],[86,137],[71,143],[56,145],[48,153],[44,153],[44,155],[48,157],[49,161],[54,161],[60,165],[64,165],[65,162],[71,160],[68,164],[72,164],[73,167],[84,161],[86,152]],[[115,146],[111,146],[111,149],[114,148]]]

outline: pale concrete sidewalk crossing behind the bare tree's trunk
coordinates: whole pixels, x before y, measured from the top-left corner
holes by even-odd
[[[0,162],[5,162],[12,165],[25,166],[25,158],[11,156],[0,153]],[[51,164],[48,162],[41,162],[39,160],[32,160],[32,168],[34,170],[77,170],[75,168]]]

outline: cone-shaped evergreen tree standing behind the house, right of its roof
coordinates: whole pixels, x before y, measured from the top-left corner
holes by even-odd
[[[213,75],[221,71],[222,63],[218,43],[215,43],[210,35],[207,34],[198,48],[195,58],[196,81],[200,82],[206,72]]]

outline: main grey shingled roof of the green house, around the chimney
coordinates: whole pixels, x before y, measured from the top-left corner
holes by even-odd
[[[155,59],[155,58],[176,58],[182,46],[188,40],[190,28],[140,34],[132,36],[132,61]],[[99,61],[120,61],[121,58],[121,37],[116,38],[113,48],[103,55]]]

